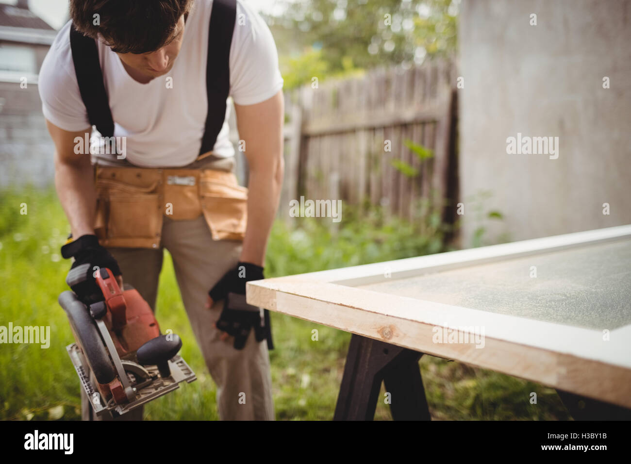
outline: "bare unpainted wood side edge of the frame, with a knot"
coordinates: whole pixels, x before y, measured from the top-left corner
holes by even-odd
[[[485,337],[483,348],[476,348],[471,343],[433,343],[435,333],[432,324],[383,314],[374,314],[372,321],[367,323],[355,317],[357,309],[262,287],[249,292],[247,300],[250,304],[263,307],[262,303],[265,302],[269,306],[267,309],[315,324],[631,408],[631,369],[625,367],[488,336]],[[327,323],[333,314],[340,321],[339,326]],[[586,373],[589,373],[589,377]],[[528,401],[528,398],[524,398],[524,401]]]

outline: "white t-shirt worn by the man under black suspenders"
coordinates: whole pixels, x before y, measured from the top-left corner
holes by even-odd
[[[98,44],[114,135],[127,137],[127,161],[134,165],[179,167],[199,155],[208,110],[206,57],[212,5],[212,0],[195,0],[173,68],[149,83],[133,80],[117,54]],[[81,131],[90,127],[90,121],[74,72],[69,28],[70,22],[59,31],[44,59],[39,92],[46,119],[66,131]],[[229,62],[230,96],[235,104],[263,102],[283,87],[271,32],[261,16],[240,0]],[[168,77],[172,88],[167,88]],[[213,150],[218,157],[234,155],[228,139],[228,112],[229,106]]]

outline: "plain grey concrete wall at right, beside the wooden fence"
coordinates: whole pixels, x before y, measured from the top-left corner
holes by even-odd
[[[463,0],[458,74],[464,247],[484,189],[487,243],[631,223],[631,1]],[[507,154],[517,133],[558,158]]]

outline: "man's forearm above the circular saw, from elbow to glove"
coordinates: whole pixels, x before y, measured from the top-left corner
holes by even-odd
[[[73,237],[94,234],[97,193],[89,157],[77,164],[55,162],[55,187]]]

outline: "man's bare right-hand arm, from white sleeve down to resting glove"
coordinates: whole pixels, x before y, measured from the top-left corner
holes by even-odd
[[[283,184],[283,92],[256,105],[235,104],[249,167],[247,230],[240,261],[263,266]]]

